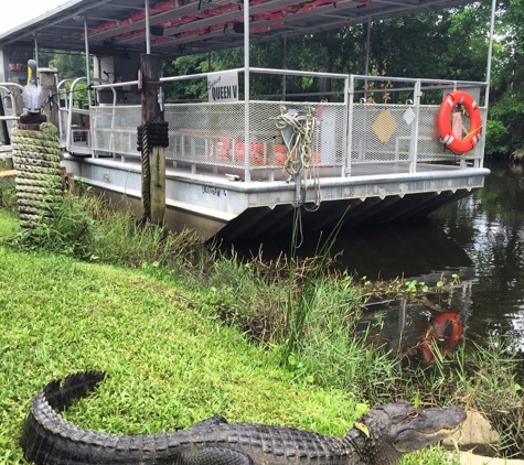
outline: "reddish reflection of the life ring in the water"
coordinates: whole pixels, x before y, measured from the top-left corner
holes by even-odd
[[[449,331],[449,324],[451,329]],[[437,343],[440,353],[446,355],[452,352],[462,337],[464,325],[457,311],[438,313],[431,317],[429,326],[425,327],[420,336],[420,352],[428,364],[435,364],[435,354],[431,350],[432,344]],[[434,343],[435,342],[435,343]]]

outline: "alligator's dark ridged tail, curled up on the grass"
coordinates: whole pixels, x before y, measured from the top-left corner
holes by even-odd
[[[21,440],[28,462],[36,465],[177,463],[179,432],[135,436],[107,434],[84,430],[60,414],[77,399],[93,392],[104,378],[99,371],[78,372],[50,382],[35,396]],[[189,436],[186,433],[185,442]]]

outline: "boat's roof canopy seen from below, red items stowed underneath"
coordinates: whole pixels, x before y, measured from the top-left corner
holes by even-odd
[[[471,0],[250,0],[250,42],[470,3]],[[150,3],[151,52],[165,56],[243,45],[244,0],[161,0]],[[69,0],[0,35],[0,45],[38,37],[40,48],[92,53],[145,51],[145,0]],[[154,34],[154,35],[153,35]]]

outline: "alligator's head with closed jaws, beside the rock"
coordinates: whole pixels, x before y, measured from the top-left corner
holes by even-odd
[[[455,433],[464,421],[466,412],[460,407],[416,409],[400,401],[381,405],[359,419],[355,428],[361,441],[353,437],[352,442],[366,463],[394,465],[404,454]]]

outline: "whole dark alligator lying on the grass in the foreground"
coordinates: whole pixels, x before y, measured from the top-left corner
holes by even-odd
[[[88,396],[99,371],[55,380],[32,401],[21,445],[36,465],[394,465],[413,451],[447,437],[466,420],[460,407],[415,408],[398,401],[361,417],[345,437],[285,426],[228,423],[222,417],[186,430],[116,435],[84,430],[58,412]]]

